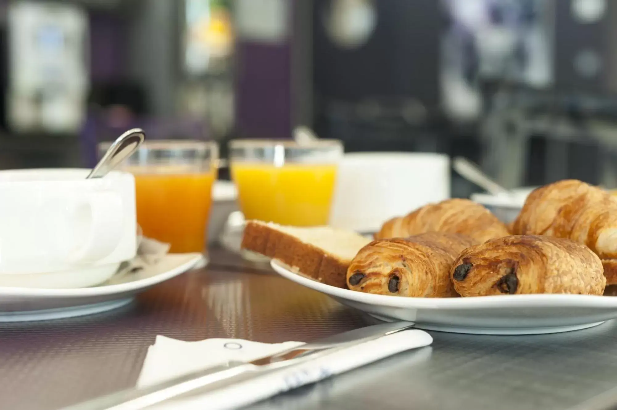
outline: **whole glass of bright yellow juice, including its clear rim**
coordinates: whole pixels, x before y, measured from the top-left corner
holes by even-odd
[[[297,227],[327,225],[342,153],[339,140],[232,141],[231,176],[244,217]]]

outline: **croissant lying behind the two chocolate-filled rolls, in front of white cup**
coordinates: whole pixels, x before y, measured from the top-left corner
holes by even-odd
[[[484,206],[469,199],[446,199],[386,221],[375,239],[405,238],[430,231],[460,233],[479,242],[510,235],[505,224]]]

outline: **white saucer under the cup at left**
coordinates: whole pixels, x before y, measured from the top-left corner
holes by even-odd
[[[104,284],[80,289],[0,287],[0,322],[68,318],[104,312],[204,262],[201,254],[168,254],[138,273],[115,275]]]

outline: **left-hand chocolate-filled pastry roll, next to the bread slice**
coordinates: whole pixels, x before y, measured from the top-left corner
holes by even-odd
[[[352,260],[347,286],[382,295],[457,296],[450,267],[463,249],[477,243],[468,236],[443,232],[379,239],[360,249]]]

